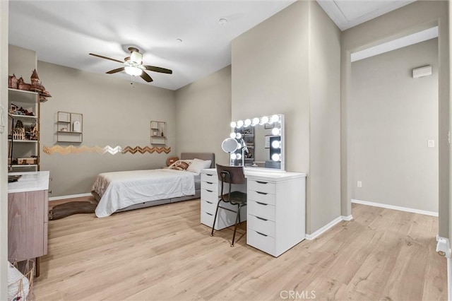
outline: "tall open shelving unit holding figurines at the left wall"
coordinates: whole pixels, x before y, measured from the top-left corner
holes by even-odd
[[[11,171],[37,171],[40,164],[38,94],[8,88],[8,165]]]

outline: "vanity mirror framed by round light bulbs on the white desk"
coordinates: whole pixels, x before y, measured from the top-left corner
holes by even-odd
[[[283,114],[238,120],[230,126],[230,138],[238,144],[230,152],[230,165],[285,170]]]

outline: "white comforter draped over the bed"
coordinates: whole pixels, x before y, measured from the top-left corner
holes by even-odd
[[[133,170],[105,172],[93,184],[101,199],[95,210],[98,218],[136,203],[195,194],[196,173],[179,170]]]

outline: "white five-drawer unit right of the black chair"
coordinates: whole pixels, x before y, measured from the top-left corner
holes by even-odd
[[[306,235],[306,175],[246,175],[246,243],[278,257]]]

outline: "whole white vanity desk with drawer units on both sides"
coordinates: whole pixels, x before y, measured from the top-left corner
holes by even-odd
[[[247,219],[246,243],[278,257],[304,240],[306,174],[245,168],[245,177],[246,185],[236,185],[233,190],[248,195],[247,206],[240,211],[241,220]],[[201,223],[209,227],[221,192],[219,182],[215,168],[201,170]],[[220,209],[215,230],[234,223],[235,214]]]

